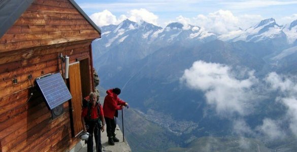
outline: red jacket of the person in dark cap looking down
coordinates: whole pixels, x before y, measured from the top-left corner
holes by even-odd
[[[117,94],[113,93],[112,89],[107,90],[106,93],[107,95],[103,104],[104,117],[113,119],[116,110],[122,109],[121,105],[125,105],[126,102],[121,100]]]

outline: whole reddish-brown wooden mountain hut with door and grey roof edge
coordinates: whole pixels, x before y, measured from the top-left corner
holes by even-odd
[[[100,37],[73,0],[0,1],[0,152],[65,151],[80,141],[81,100],[94,91],[91,42]],[[61,73],[72,96],[52,110],[35,83],[49,73]]]

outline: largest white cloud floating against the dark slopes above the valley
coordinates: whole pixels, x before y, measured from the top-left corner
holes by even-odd
[[[229,66],[196,61],[180,80],[192,89],[204,91],[207,103],[214,105],[217,113],[247,115],[252,112],[253,101],[257,98],[251,87],[258,80],[253,71],[247,71],[247,79],[243,80],[232,73]]]

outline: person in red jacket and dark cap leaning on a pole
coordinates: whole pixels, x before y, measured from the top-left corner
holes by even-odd
[[[106,123],[106,132],[108,136],[108,143],[114,145],[114,142],[119,142],[119,139],[115,137],[116,123],[114,116],[117,110],[122,109],[124,106],[127,108],[128,103],[121,100],[118,95],[121,93],[119,88],[114,88],[106,91],[107,95],[104,99],[103,112]]]

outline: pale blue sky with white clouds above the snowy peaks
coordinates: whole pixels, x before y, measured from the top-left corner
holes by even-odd
[[[75,2],[99,26],[118,24],[128,18],[133,21],[144,20],[162,27],[170,22],[179,21],[206,28],[218,24],[232,27],[226,30],[234,30],[238,27],[248,28],[267,18],[276,19],[278,24],[290,23],[297,19],[297,1],[290,0],[75,0]]]

